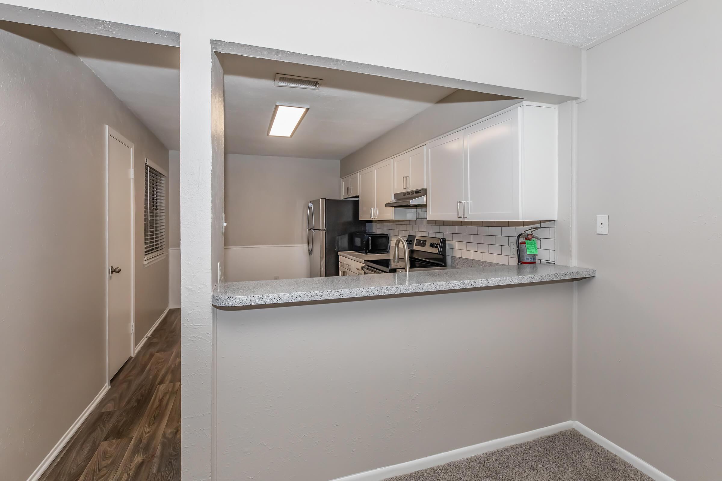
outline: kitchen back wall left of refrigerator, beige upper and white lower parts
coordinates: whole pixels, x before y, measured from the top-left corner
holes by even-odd
[[[308,277],[308,202],[340,193],[338,160],[228,154],[225,280]]]

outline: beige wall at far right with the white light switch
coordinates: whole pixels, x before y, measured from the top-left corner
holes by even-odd
[[[722,473],[721,17],[690,0],[588,50],[578,112],[578,420],[679,481]]]

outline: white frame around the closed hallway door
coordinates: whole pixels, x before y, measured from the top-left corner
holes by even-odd
[[[118,131],[105,125],[105,384],[110,385],[110,376],[108,375],[108,369],[110,369],[110,339],[108,336],[109,332],[109,319],[108,319],[108,299],[109,299],[109,288],[110,278],[108,276],[108,266],[110,265],[110,258],[108,255],[108,227],[110,219],[109,211],[109,198],[108,190],[110,188],[110,177],[108,176],[109,164],[110,164],[110,137],[116,139],[124,146],[131,149],[131,345],[130,352],[131,357],[135,356],[135,145],[127,138],[123,137]]]

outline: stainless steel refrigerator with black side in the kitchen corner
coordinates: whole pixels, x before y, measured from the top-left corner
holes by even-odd
[[[308,203],[306,242],[311,277],[339,275],[339,252],[349,250],[352,232],[365,231],[358,199],[316,199]]]

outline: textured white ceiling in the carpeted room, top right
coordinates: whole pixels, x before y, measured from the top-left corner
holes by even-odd
[[[582,47],[673,0],[371,0]]]

